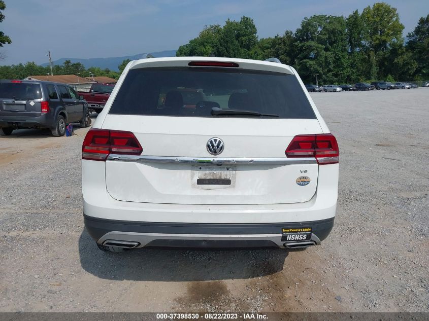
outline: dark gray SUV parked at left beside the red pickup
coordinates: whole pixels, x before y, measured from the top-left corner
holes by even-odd
[[[85,100],[65,84],[47,81],[0,80],[0,134],[14,129],[49,128],[63,136],[68,123],[89,127]]]

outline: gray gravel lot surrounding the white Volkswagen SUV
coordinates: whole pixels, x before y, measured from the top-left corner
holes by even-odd
[[[312,94],[340,145],[321,246],[99,251],[76,136],[0,137],[0,311],[429,311],[429,88]]]

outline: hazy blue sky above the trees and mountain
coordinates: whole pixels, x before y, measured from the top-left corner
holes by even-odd
[[[427,0],[385,1],[398,9],[412,31],[429,13]],[[251,17],[260,38],[295,31],[304,17],[315,14],[348,16],[373,5],[367,0],[5,0],[6,19],[0,24],[12,39],[0,48],[0,64],[44,63],[62,57],[98,58],[177,49],[209,24],[227,18]]]

